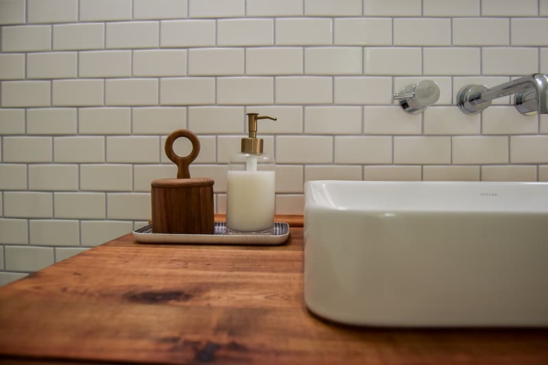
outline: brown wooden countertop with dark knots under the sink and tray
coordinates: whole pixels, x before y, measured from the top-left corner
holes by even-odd
[[[131,234],[0,288],[0,364],[548,364],[548,329],[382,329],[312,316],[303,229],[279,247]]]

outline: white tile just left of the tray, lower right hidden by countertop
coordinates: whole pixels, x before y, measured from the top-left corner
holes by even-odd
[[[123,221],[82,221],[82,246],[98,246],[114,240],[133,230],[132,222]]]

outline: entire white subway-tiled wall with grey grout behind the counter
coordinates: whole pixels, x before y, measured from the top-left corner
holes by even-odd
[[[548,73],[548,0],[0,0],[0,25],[0,284],[143,225],[175,129],[224,212],[246,112],[278,118],[280,214],[309,179],[548,181],[546,115],[454,105]],[[406,114],[422,79],[440,99]]]

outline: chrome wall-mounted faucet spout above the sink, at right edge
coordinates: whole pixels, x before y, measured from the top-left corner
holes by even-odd
[[[457,95],[458,108],[466,114],[477,114],[491,105],[493,99],[516,95],[514,105],[525,115],[548,114],[548,75],[533,73],[487,88],[484,85],[467,85]]]

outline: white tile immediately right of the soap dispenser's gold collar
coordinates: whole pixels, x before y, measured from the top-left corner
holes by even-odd
[[[276,161],[279,164],[330,164],[333,162],[333,138],[277,136]]]

